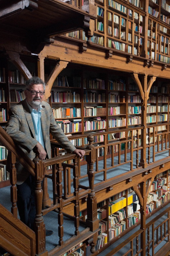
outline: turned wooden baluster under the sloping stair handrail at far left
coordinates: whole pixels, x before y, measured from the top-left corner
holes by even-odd
[[[15,168],[16,156],[11,152],[11,170],[10,170],[10,183],[11,183],[11,212],[15,218],[18,216],[17,212],[17,172]]]

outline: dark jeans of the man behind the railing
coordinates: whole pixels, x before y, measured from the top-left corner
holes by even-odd
[[[17,207],[19,217],[29,228],[33,229],[33,223],[35,219],[35,181],[34,177],[30,176],[22,183],[17,185]]]

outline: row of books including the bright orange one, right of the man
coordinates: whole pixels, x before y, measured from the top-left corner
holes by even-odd
[[[81,108],[53,108],[53,115],[55,118],[72,118],[81,116]]]

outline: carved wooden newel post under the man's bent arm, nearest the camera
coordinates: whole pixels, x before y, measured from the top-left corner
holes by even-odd
[[[43,191],[41,188],[42,180],[44,178],[44,169],[42,160],[36,155],[33,159],[35,164],[35,207],[36,215],[34,222],[34,231],[36,233],[36,256],[47,256],[48,251],[45,249],[45,224],[42,217],[42,197]]]

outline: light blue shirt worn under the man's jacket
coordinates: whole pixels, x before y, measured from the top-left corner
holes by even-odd
[[[40,105],[37,108],[37,110],[35,110],[28,104],[27,101],[26,101],[26,103],[31,112],[31,117],[33,120],[33,126],[34,126],[34,130],[35,130],[36,140],[38,140],[38,142],[40,142],[40,144],[45,149],[44,139],[43,139],[43,135],[42,135],[42,128],[41,128],[41,109],[42,109],[42,107]]]

